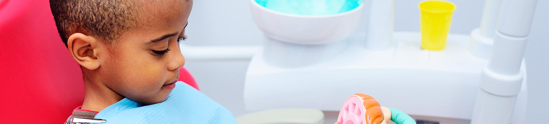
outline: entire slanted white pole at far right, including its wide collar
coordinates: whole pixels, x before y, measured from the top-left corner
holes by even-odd
[[[472,124],[509,123],[524,78],[520,64],[536,4],[537,0],[503,3],[488,66],[480,76]]]

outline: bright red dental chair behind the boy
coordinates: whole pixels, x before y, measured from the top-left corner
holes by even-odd
[[[198,89],[184,68],[180,80]],[[63,123],[83,98],[49,2],[0,0],[0,123]]]

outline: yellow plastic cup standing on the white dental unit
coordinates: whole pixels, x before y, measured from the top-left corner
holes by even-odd
[[[421,10],[421,48],[444,49],[456,5],[447,1],[424,1],[419,3],[419,9]]]

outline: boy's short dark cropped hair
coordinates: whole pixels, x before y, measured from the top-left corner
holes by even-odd
[[[74,33],[112,43],[137,25],[135,2],[127,0],[50,0],[59,36],[67,46]],[[68,46],[67,46],[68,47]]]

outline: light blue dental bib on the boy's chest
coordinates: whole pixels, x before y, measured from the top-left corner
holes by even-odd
[[[124,98],[100,111],[103,124],[237,123],[225,107],[184,82],[176,82],[166,101],[142,105]]]

